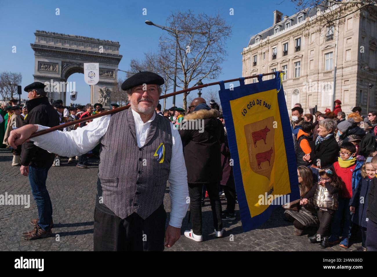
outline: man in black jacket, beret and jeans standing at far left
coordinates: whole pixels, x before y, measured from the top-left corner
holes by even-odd
[[[54,127],[59,125],[58,112],[50,105],[44,90],[44,84],[35,82],[25,87],[29,101],[26,102],[29,113],[25,117],[25,124],[40,124]],[[34,229],[24,232],[26,240],[51,236],[52,204],[46,188],[46,179],[49,168],[54,161],[55,154],[34,145],[32,141],[22,145],[21,174],[29,176],[31,192],[37,203],[38,218],[32,219]]]

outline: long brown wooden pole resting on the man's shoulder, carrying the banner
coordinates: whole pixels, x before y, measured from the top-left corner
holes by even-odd
[[[273,75],[273,74],[275,74],[275,72],[264,73],[264,74],[262,74],[262,76]],[[258,77],[258,75],[253,75],[253,76],[245,77],[245,79],[257,78],[257,77]],[[226,81],[224,81],[224,83],[236,82],[236,81],[239,81],[239,80],[240,80],[240,78],[236,78],[236,79],[226,80]],[[174,95],[181,94],[181,93],[184,93],[184,92],[189,92],[189,91],[192,91],[192,90],[201,89],[202,87],[215,86],[215,85],[218,85],[218,84],[220,84],[220,82],[214,82],[214,83],[202,84],[202,85],[196,86],[196,87],[190,87],[189,89],[183,89],[183,90],[179,90],[179,91],[176,91],[176,92],[161,95],[159,97],[159,99],[168,98],[170,96],[174,96]],[[98,117],[101,117],[101,116],[121,112],[123,110],[128,109],[129,107],[130,107],[130,104],[128,104],[127,106],[123,106],[123,107],[113,109],[113,110],[108,110],[106,112],[97,113],[96,115],[88,116],[86,118],[70,121],[70,122],[55,126],[55,127],[51,127],[49,129],[46,129],[46,130],[41,130],[39,132],[35,132],[34,134],[32,134],[30,136],[30,138],[35,138],[36,136],[40,136],[40,135],[44,135],[44,134],[47,134],[47,133],[50,133],[50,132],[54,132],[56,130],[63,129],[63,128],[71,126],[71,125],[76,125],[76,124],[81,123],[81,122],[89,121],[89,120],[92,120],[92,119],[95,119],[95,118],[98,118]]]

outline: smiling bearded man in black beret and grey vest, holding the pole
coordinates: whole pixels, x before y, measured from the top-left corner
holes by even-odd
[[[164,79],[153,72],[136,73],[121,86],[127,91],[130,109],[94,119],[65,134],[55,131],[32,139],[61,156],[83,154],[101,144],[95,251],[162,251],[164,245],[171,247],[181,236],[189,205],[187,171],[178,130],[155,112],[162,84]],[[8,141],[20,144],[44,129],[41,125],[25,126],[13,131]],[[171,212],[165,230],[167,180]]]

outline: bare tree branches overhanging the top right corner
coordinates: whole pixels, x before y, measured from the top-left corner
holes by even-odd
[[[317,18],[322,26],[335,25],[339,19],[345,18],[359,10],[366,17],[376,14],[376,0],[291,0],[300,10],[320,9],[320,17]]]

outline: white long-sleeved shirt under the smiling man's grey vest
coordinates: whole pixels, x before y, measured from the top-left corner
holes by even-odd
[[[135,121],[137,144],[138,147],[142,147],[149,131],[150,122],[153,121],[156,113],[153,113],[152,118],[145,123],[137,112],[132,110],[132,114]],[[109,122],[110,115],[106,115],[95,118],[90,124],[70,132],[54,131],[30,140],[50,153],[65,157],[80,156],[92,150],[98,144],[100,138],[106,133]],[[42,125],[37,126],[38,131],[49,128]],[[172,130],[173,146],[168,179],[170,184],[170,205],[172,207],[169,225],[181,228],[182,220],[189,208],[189,188],[181,136],[179,136],[178,130],[173,128],[173,124],[170,124],[170,128]]]

